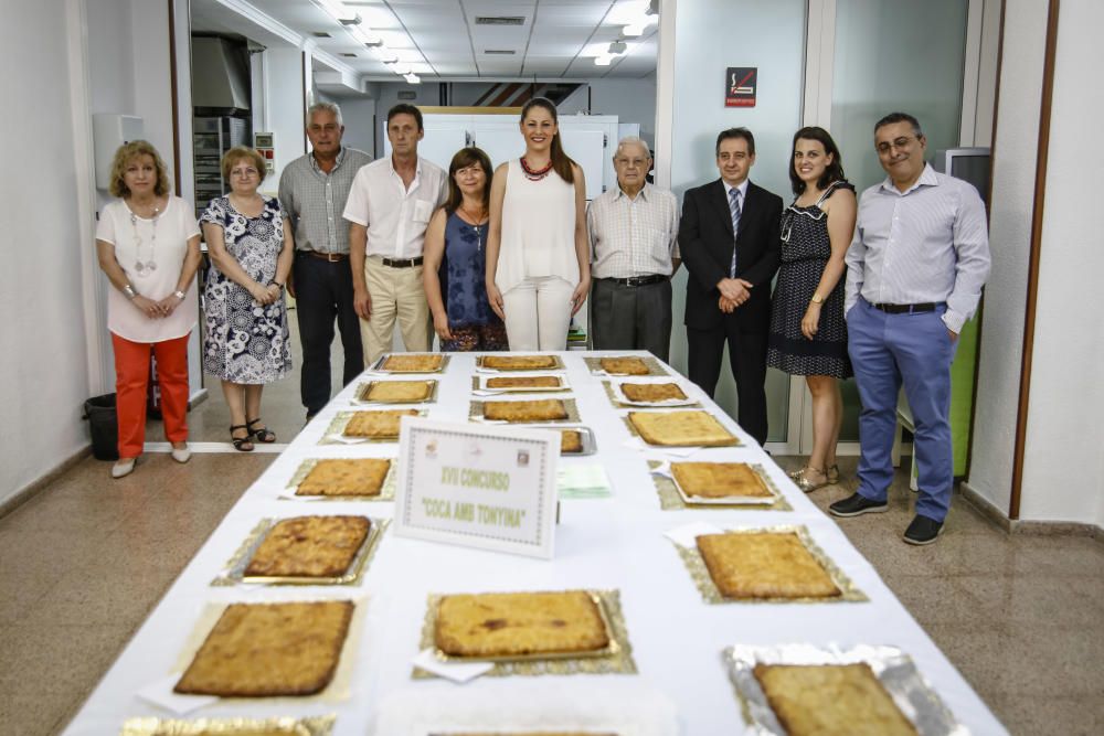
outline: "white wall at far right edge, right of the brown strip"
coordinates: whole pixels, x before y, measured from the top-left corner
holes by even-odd
[[[1022,519],[1101,522],[1104,327],[1096,295],[1104,238],[1086,188],[1086,124],[1104,119],[1095,51],[1104,3],[1063,2],[1059,17],[1039,264]],[[1007,18],[1006,18],[1007,29]],[[1039,34],[1043,32],[1040,24]],[[1007,46],[1006,46],[1007,51]],[[1005,54],[1007,61],[1008,54]],[[1020,81],[1022,84],[1022,79]],[[1090,92],[1095,90],[1095,92]],[[1001,90],[1004,94],[1004,90]],[[1090,147],[1092,146],[1089,143]],[[1089,201],[1086,201],[1089,200]],[[1087,205],[1087,206],[1086,206]]]

